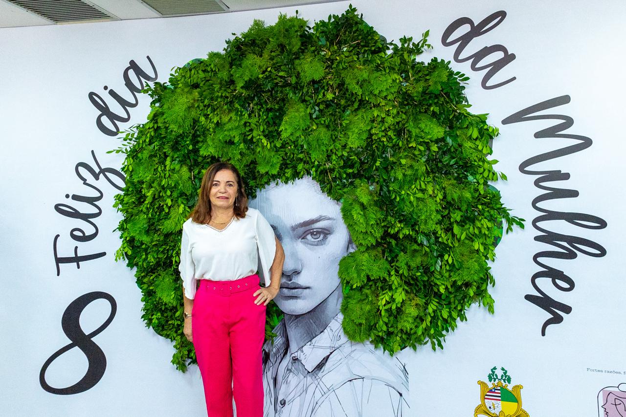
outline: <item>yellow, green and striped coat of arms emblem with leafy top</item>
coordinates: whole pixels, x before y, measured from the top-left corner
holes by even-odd
[[[511,376],[505,368],[500,368],[500,376],[496,373],[497,366],[491,368],[487,376],[491,386],[485,381],[478,381],[480,385],[480,404],[474,410],[474,417],[530,417],[521,408],[521,385],[515,385],[509,389]]]

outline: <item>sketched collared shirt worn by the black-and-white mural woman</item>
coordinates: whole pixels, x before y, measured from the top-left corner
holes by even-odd
[[[400,417],[408,410],[404,364],[371,343],[350,341],[341,312],[288,359],[277,391],[280,361],[289,354],[285,322],[263,346],[264,417]]]

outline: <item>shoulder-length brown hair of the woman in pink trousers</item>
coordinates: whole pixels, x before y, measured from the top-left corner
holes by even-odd
[[[235,207],[233,207],[235,216],[237,219],[243,219],[245,212],[248,211],[248,197],[245,195],[244,183],[241,180],[241,175],[239,175],[239,170],[231,163],[216,162],[205,171],[202,185],[200,185],[200,193],[198,193],[198,202],[189,214],[189,217],[196,223],[205,224],[211,220],[211,202],[208,196],[213,187],[215,174],[221,170],[230,170],[237,178],[237,197],[235,198]]]

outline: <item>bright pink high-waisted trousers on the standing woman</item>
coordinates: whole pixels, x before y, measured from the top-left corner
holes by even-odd
[[[193,346],[208,417],[262,417],[265,306],[254,304],[259,275],[200,280],[192,310]]]

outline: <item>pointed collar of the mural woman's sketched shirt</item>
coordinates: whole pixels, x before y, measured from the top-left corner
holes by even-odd
[[[307,342],[302,348],[292,353],[292,358],[299,359],[307,371],[313,371],[324,358],[348,341],[341,327],[343,318],[343,314],[339,312],[326,326],[326,329]],[[264,353],[269,354],[269,362],[271,364],[280,361],[287,354],[287,348],[289,347],[284,320],[274,327],[273,332],[276,334],[274,344],[268,341],[263,346]]]

